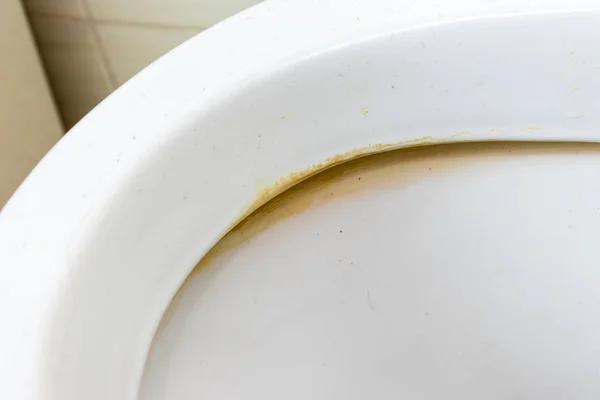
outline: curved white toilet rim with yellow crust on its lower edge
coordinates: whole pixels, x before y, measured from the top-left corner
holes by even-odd
[[[260,4],[75,126],[0,214],[0,397],[135,398],[196,262],[325,168],[434,143],[600,142],[582,40],[596,2],[417,3]]]

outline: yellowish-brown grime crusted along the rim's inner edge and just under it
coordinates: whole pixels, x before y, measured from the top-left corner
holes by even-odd
[[[463,132],[459,132],[463,135]],[[455,134],[456,135],[456,134]],[[464,167],[464,164],[456,163],[457,159],[470,159],[473,149],[490,152],[490,154],[499,154],[498,150],[502,149],[502,153],[511,152],[512,156],[517,154],[530,155],[532,152],[551,153],[564,152],[565,148],[577,151],[597,152],[597,149],[590,149],[589,144],[581,143],[519,143],[518,147],[511,145],[508,150],[505,149],[506,143],[473,143],[470,146],[444,146],[444,152],[440,153],[441,148],[431,147],[418,152],[403,152],[395,155],[388,150],[397,148],[416,148],[426,144],[442,144],[448,141],[448,138],[432,138],[425,136],[419,139],[397,144],[389,145],[373,145],[361,149],[352,150],[338,156],[329,157],[322,163],[315,164],[312,168],[305,169],[295,174],[290,174],[288,177],[277,180],[273,185],[265,187],[256,199],[257,209],[251,214],[244,217],[239,224],[236,224],[198,263],[195,272],[198,272],[205,267],[211,265],[216,257],[222,253],[236,248],[242,243],[252,240],[252,237],[259,232],[264,231],[273,224],[288,218],[292,215],[300,214],[311,207],[325,204],[332,199],[364,190],[364,186],[357,184],[362,177],[362,182],[367,183],[370,187],[373,185],[387,185],[390,182],[390,176],[394,176],[399,171],[403,171],[405,163],[430,157],[439,159],[439,155],[445,154],[451,156],[449,164],[439,164],[444,167],[440,170],[448,172],[448,168]],[[446,151],[447,149],[447,151]],[[386,156],[373,157],[362,161],[353,161],[344,165],[342,169],[334,167],[338,164],[351,161],[349,158],[359,159],[363,156],[373,155],[378,152],[387,152]],[[469,155],[469,157],[464,157]],[[331,164],[328,164],[331,163]],[[327,171],[323,171],[327,169]],[[420,179],[422,175],[411,173],[411,177]],[[318,175],[317,175],[318,174]],[[426,172],[427,174],[427,172]],[[300,182],[296,179],[305,180],[317,175],[316,179]],[[397,176],[397,175],[396,175]],[[366,178],[366,179],[365,179]],[[298,185],[296,185],[298,183]],[[279,187],[277,185],[290,185],[293,188]],[[287,190],[290,189],[290,190]],[[284,192],[282,196],[274,195],[274,192]],[[279,193],[278,193],[279,194]],[[335,196],[334,196],[335,194]],[[260,196],[265,196],[261,198]],[[269,198],[273,197],[273,198]],[[264,202],[264,204],[262,204]]]

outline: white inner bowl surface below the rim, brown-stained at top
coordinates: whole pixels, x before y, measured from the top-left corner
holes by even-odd
[[[598,237],[598,145],[344,164],[196,267],[140,400],[600,398]]]

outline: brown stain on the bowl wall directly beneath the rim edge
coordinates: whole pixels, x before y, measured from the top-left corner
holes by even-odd
[[[357,156],[359,159],[349,161],[336,168],[320,173],[314,172],[313,175],[316,175],[312,178],[304,177],[306,180],[303,182],[263,204],[211,248],[172,299],[162,317],[157,335],[160,335],[164,327],[168,325],[169,319],[173,317],[178,308],[181,293],[186,290],[188,285],[192,284],[197,274],[208,274],[204,276],[204,279],[210,281],[219,271],[218,266],[226,264],[227,258],[235,254],[236,248],[251,242],[257,234],[287,218],[328,202],[343,199],[348,195],[364,195],[372,190],[395,186],[399,183],[410,185],[421,179],[440,176],[440,174],[469,171],[480,165],[482,157],[486,160],[501,160],[506,157],[531,157],[564,152],[600,155],[600,144],[474,142],[412,147],[366,158],[360,158],[363,156],[360,155]]]

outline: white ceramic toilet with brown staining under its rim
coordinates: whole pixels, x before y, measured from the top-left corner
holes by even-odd
[[[0,398],[596,399],[600,5],[266,1],[0,213]]]

